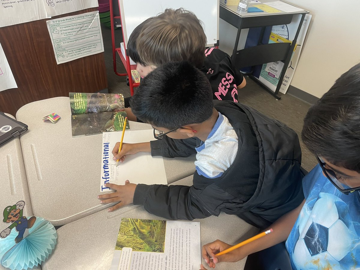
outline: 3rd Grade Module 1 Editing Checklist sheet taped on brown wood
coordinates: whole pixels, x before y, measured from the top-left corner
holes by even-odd
[[[104,51],[99,12],[46,21],[58,64]]]

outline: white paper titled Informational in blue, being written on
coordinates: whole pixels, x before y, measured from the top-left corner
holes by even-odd
[[[123,163],[116,167],[112,149],[121,140],[122,131],[104,132],[101,159],[100,191],[109,191],[104,184],[124,185],[126,180],[134,184],[167,185],[165,166],[162,157],[152,157],[150,153],[127,155]],[[144,143],[154,140],[152,129],[126,130],[124,143]]]

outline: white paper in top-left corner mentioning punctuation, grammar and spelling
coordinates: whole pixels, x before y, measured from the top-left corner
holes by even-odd
[[[50,18],[44,0],[1,0],[0,27]]]

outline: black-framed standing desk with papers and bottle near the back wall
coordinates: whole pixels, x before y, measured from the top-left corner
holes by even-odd
[[[274,0],[261,0],[260,2],[261,3],[251,3],[249,7],[253,7],[254,5],[274,2]],[[285,2],[285,1],[279,1],[279,2]],[[297,41],[297,37],[300,32],[300,28],[307,13],[309,12],[306,10],[299,10],[294,12],[284,12],[280,10],[280,12],[276,12],[276,13],[269,13],[269,12],[240,13],[237,10],[237,6],[226,6],[225,4],[220,3],[219,17],[224,21],[230,23],[232,26],[238,28],[233,54],[231,56],[231,59],[233,60],[235,67],[243,68],[249,66],[256,66],[259,64],[271,63],[275,61],[284,62],[285,68],[283,68],[279,76],[279,83],[276,86],[275,92],[273,92],[272,90],[269,89],[269,87],[267,87],[262,82],[260,82],[258,78],[252,76],[251,73],[249,74],[250,78],[252,78],[255,82],[257,82],[259,85],[264,87],[264,89],[267,90],[276,99],[280,99],[278,93],[280,91],[280,87],[283,82],[283,78],[285,76],[287,67],[289,66],[292,53]],[[292,40],[291,43],[279,42],[272,44],[262,44],[266,26],[289,24],[291,23],[293,17],[297,15],[301,16],[300,23],[298,25],[294,39]],[[258,39],[257,46],[238,50],[241,30],[246,28],[253,28],[253,27],[261,27],[261,34]]]

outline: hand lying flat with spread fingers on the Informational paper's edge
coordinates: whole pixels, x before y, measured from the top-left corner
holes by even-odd
[[[107,183],[105,184],[105,186],[116,191],[104,195],[99,195],[98,199],[101,200],[100,203],[119,202],[118,204],[109,208],[108,212],[112,212],[120,207],[132,203],[132,200],[134,199],[136,184],[130,184],[129,180],[126,180],[125,185],[115,185]]]

